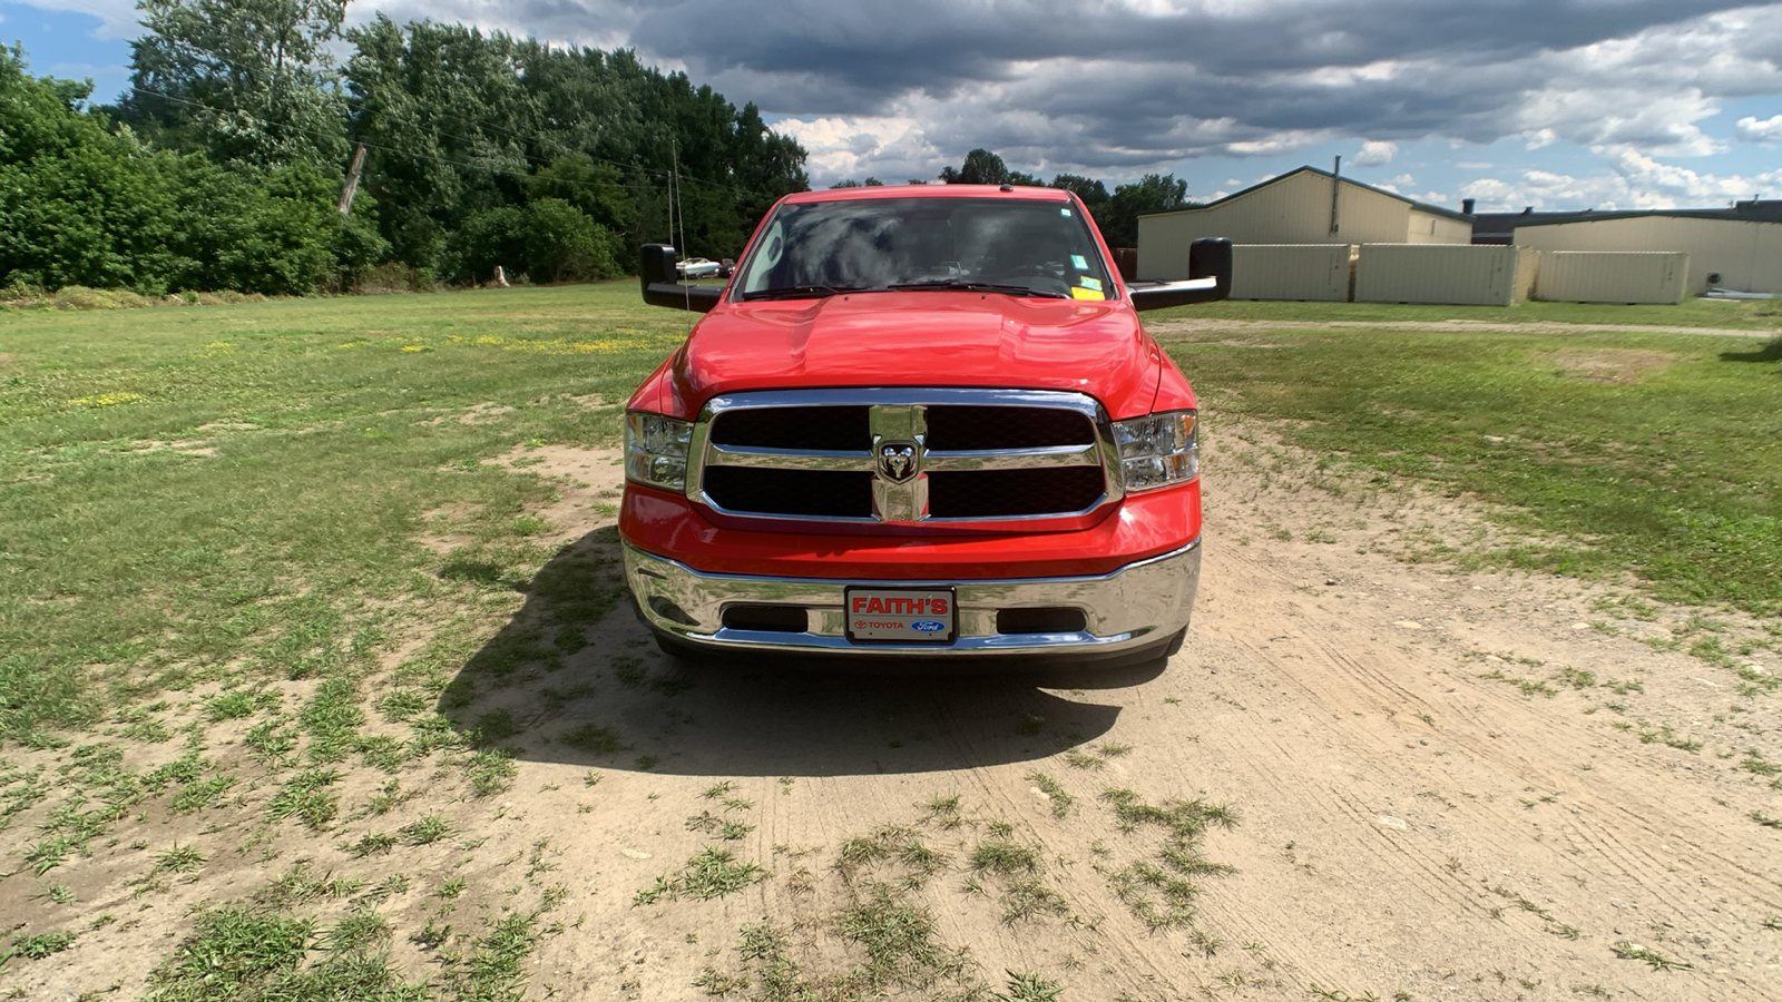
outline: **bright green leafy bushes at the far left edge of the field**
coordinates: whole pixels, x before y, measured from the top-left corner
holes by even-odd
[[[339,178],[155,152],[78,111],[84,96],[0,48],[0,289],[303,296],[349,289],[388,255],[376,200],[335,210]]]

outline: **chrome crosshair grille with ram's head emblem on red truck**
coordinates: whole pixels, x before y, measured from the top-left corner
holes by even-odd
[[[1057,390],[766,390],[715,398],[688,497],[843,522],[1069,517],[1119,497],[1107,414]]]

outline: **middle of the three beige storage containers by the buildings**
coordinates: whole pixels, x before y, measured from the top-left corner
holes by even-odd
[[[1508,307],[1522,255],[1513,246],[1361,244],[1356,303]]]

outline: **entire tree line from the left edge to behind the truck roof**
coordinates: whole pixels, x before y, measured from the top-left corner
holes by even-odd
[[[734,257],[809,187],[805,150],[756,105],[629,50],[383,14],[344,29],[346,0],[137,11],[112,103],[0,48],[0,291],[308,294],[479,283],[497,266],[604,278],[647,241]],[[1048,184],[989,150],[939,180]],[[1135,246],[1140,212],[1189,205],[1173,175],[1050,184],[1114,246]]]

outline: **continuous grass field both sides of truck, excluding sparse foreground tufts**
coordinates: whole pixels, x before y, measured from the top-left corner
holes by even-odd
[[[1761,328],[1768,307],[1153,316]],[[629,282],[0,314],[0,735],[91,720],[96,692],[127,701],[225,665],[321,672],[365,651],[381,631],[367,608],[438,587],[438,556],[415,542],[426,513],[462,513],[478,540],[465,560],[526,574],[544,554],[524,513],[549,485],[485,460],[615,442],[624,398],[688,321],[642,307]],[[1165,342],[1208,401],[1210,433],[1219,412],[1281,419],[1320,455],[1470,492],[1550,533],[1500,560],[1782,604],[1777,342],[1367,330]],[[486,419],[460,421],[470,408]]]

